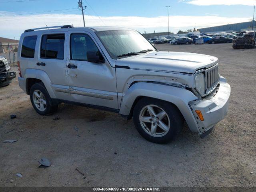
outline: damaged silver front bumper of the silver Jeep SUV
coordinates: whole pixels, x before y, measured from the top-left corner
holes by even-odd
[[[228,100],[231,88],[224,77],[220,77],[219,81],[220,85],[214,92],[200,101],[190,102],[192,113],[201,131],[199,134],[203,134],[213,128],[228,112]],[[201,111],[204,120],[200,120],[195,110]]]

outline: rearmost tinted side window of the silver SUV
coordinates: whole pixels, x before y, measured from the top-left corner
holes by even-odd
[[[37,36],[24,37],[21,48],[21,56],[25,58],[34,58]]]

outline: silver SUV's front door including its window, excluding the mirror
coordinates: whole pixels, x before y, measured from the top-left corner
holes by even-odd
[[[69,42],[67,71],[72,101],[117,109],[115,68],[106,58],[104,63],[88,62],[88,51],[102,52],[90,34],[70,32]]]

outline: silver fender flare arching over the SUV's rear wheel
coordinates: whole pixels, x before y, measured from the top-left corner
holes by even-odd
[[[54,94],[54,90],[51,87],[52,82],[51,82],[49,76],[46,74],[46,72],[44,72],[43,70],[38,70],[38,69],[26,69],[25,76],[24,76],[24,79],[26,80],[25,81],[26,84],[27,84],[28,78],[35,78],[35,79],[41,80],[44,83],[44,86],[46,87],[50,97],[56,98],[56,95]]]

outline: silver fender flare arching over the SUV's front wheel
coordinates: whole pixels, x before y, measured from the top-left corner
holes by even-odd
[[[196,133],[200,132],[196,119],[188,105],[188,102],[198,98],[189,90],[147,82],[135,83],[125,92],[122,98],[120,114],[129,115],[134,101],[140,96],[156,98],[173,103],[179,108],[190,130]]]

